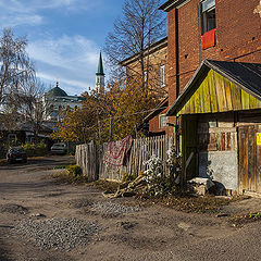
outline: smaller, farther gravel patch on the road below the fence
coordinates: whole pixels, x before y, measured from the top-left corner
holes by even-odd
[[[130,212],[140,211],[138,207],[123,206],[113,202],[97,202],[90,207],[91,211],[99,211],[108,214],[125,214]]]

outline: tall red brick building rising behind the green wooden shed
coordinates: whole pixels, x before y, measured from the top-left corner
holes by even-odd
[[[169,105],[204,59],[258,63],[261,61],[259,0],[169,0]],[[173,121],[170,119],[170,121]]]

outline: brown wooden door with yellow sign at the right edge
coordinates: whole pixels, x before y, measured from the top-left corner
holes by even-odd
[[[261,192],[261,125],[238,128],[239,190]]]

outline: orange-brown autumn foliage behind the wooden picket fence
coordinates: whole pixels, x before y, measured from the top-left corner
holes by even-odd
[[[149,88],[141,88],[137,79],[128,79],[108,85],[105,90],[92,90],[83,96],[86,100],[83,109],[67,111],[66,116],[58,125],[52,138],[64,141],[99,142],[119,140],[136,133],[148,112],[158,100]]]

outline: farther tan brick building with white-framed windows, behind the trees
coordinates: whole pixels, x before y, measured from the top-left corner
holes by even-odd
[[[151,91],[156,91],[160,103],[149,113],[139,126],[148,136],[165,134],[167,128],[165,112],[167,110],[167,85],[165,67],[167,61],[167,38],[162,38],[145,50],[145,73]],[[139,55],[132,55],[121,62],[126,67],[127,77],[142,77]]]

